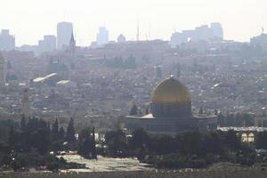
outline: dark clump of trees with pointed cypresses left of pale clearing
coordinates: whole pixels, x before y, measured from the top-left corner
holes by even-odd
[[[55,119],[53,125],[37,117],[26,119],[22,116],[20,123],[2,120],[0,133],[6,136],[0,137],[0,166],[15,171],[41,166],[52,171],[85,167],[56,157],[61,150],[77,147],[73,122],[71,118],[65,130],[59,128],[58,119]]]

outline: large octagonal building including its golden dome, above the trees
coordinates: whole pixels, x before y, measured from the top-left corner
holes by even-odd
[[[149,133],[176,134],[190,129],[215,129],[216,116],[193,115],[188,88],[174,77],[166,78],[151,93],[150,114],[126,116],[125,128]]]

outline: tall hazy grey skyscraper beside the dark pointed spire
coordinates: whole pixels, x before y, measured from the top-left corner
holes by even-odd
[[[60,22],[57,25],[57,49],[67,49],[69,47],[69,40],[73,32],[73,25],[71,22]]]

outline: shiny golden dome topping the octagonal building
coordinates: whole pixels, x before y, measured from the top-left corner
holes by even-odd
[[[190,93],[185,85],[174,77],[166,78],[154,88],[151,101],[153,103],[188,103]]]

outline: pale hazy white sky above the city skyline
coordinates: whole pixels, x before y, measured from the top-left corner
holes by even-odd
[[[0,28],[9,28],[16,44],[37,44],[44,35],[55,35],[59,21],[71,21],[77,44],[95,40],[98,27],[109,29],[114,40],[121,33],[169,39],[182,29],[219,21],[226,39],[248,41],[267,30],[266,0],[1,0]],[[264,20],[265,18],[265,20]]]

